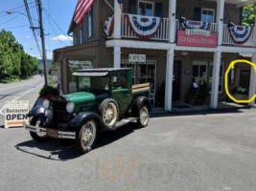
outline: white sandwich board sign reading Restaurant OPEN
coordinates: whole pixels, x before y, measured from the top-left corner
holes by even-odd
[[[5,106],[5,128],[22,127],[29,122],[29,101],[7,101]]]

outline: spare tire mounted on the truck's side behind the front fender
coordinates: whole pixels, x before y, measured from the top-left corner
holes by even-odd
[[[108,121],[108,117],[107,114],[105,114],[105,110],[106,110],[106,107],[109,106],[109,104],[111,105],[112,109],[114,110],[114,114],[113,114],[113,119],[111,120],[110,119],[110,122],[107,122]],[[118,117],[119,117],[119,108],[118,108],[118,104],[117,102],[112,99],[112,98],[106,98],[100,105],[99,107],[99,113],[103,119],[103,122],[105,124],[105,126],[108,128],[108,129],[112,129],[113,127],[115,127],[116,125],[116,122],[118,120]]]

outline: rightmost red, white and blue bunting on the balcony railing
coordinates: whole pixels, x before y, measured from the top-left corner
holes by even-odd
[[[232,22],[229,22],[227,27],[232,40],[237,44],[244,44],[249,39],[252,32],[251,27],[237,26]]]

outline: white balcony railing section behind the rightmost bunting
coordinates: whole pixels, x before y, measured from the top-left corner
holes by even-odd
[[[255,47],[255,42],[256,42],[256,28],[252,29],[250,37],[246,42],[244,42],[243,44],[237,44],[232,40],[231,35],[228,31],[227,25],[224,24],[223,39],[222,39],[223,45]]]

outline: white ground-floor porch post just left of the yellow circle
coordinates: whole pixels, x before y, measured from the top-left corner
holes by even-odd
[[[221,52],[216,52],[214,53],[212,94],[211,94],[211,108],[213,109],[218,108],[220,71],[221,71]]]

